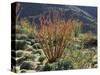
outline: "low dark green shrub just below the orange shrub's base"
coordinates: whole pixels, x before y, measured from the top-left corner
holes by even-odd
[[[73,69],[73,65],[70,61],[66,60],[58,60],[53,63],[47,63],[44,66],[44,71],[51,71],[51,70],[68,70]]]

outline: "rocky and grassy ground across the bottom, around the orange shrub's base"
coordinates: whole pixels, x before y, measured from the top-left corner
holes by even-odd
[[[92,40],[93,41],[93,40]],[[86,44],[86,48],[81,49],[80,44],[71,43],[71,47],[65,49],[64,59],[53,63],[46,63],[46,56],[41,48],[39,40],[27,34],[16,34],[16,50],[12,50],[12,59],[16,62],[12,71],[17,73],[85,69],[97,67],[97,48]],[[70,49],[70,50],[68,50]]]

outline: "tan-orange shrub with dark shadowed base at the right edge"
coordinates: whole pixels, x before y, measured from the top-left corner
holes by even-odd
[[[97,37],[92,32],[81,34],[79,39],[81,40],[82,48],[97,47]]]

